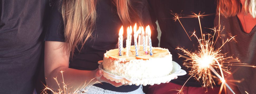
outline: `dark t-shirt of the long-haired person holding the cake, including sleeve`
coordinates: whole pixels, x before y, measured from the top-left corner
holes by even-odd
[[[146,2],[144,2],[144,4],[146,4]],[[138,10],[142,12],[144,25],[151,25],[152,27],[150,15],[146,5],[142,6]],[[70,59],[70,68],[80,70],[95,70],[99,66],[97,62],[103,60],[104,53],[107,50],[117,48],[116,44],[118,41],[118,33],[122,23],[117,15],[116,9],[111,5],[111,0],[99,0],[96,6],[96,12],[96,30],[93,31],[92,37],[86,41],[81,52],[76,49],[72,60]],[[52,8],[52,14],[45,41],[64,42],[63,34],[62,16],[60,12],[58,12],[58,5],[55,4]],[[152,28],[152,45],[155,44],[153,46],[156,46],[158,43],[156,37],[157,32],[154,32],[154,29]],[[79,48],[81,48],[81,46],[79,46]],[[94,84],[94,86],[118,92],[129,92],[136,90],[139,87],[136,85],[115,87],[109,83],[102,84]]]

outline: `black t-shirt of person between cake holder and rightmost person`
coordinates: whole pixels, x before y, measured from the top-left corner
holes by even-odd
[[[161,39],[160,39],[160,47],[167,48],[173,55],[173,61],[177,62],[181,69],[184,69],[187,74],[183,76],[179,76],[178,79],[171,80],[171,83],[184,85],[186,80],[190,77],[188,75],[187,67],[183,66],[185,58],[180,57],[179,54],[183,54],[183,52],[177,50],[177,47],[184,47],[185,49],[195,51],[198,48],[198,40],[195,37],[191,37],[189,39],[188,35],[184,31],[183,27],[180,25],[180,22],[174,21],[174,16],[171,14],[173,13],[181,13],[183,16],[185,15],[193,15],[192,12],[198,14],[199,11],[205,14],[212,14],[215,13],[215,1],[214,0],[148,0],[150,7],[152,9],[152,15],[155,15],[159,23],[159,27],[161,29]],[[182,12],[181,12],[182,11]],[[215,15],[211,16],[204,16],[200,18],[201,26],[203,33],[211,33],[210,29],[213,28],[214,25],[214,17]],[[185,30],[188,32],[189,36],[192,35],[194,30],[196,31],[196,35],[200,38],[201,32],[199,27],[199,21],[197,18],[180,18],[182,25],[184,26]],[[204,28],[205,27],[205,28]],[[191,78],[185,84],[185,86],[193,86],[193,87],[200,87],[199,81]]]

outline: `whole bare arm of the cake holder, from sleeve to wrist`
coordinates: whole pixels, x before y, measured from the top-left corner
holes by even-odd
[[[54,91],[63,90],[64,82],[67,88],[72,87],[69,90],[73,92],[84,84],[88,84],[88,86],[94,84],[97,79],[91,82],[90,80],[95,78],[96,70],[88,71],[68,68],[70,52],[68,52],[67,48],[65,42],[45,42],[45,77],[48,87],[51,87]]]

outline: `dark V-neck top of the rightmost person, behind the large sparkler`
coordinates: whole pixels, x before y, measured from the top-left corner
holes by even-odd
[[[214,20],[214,25],[218,26],[219,17],[216,16]],[[216,47],[219,48],[222,45],[222,40],[230,39],[229,36],[235,36],[235,39],[227,42],[221,49],[221,53],[225,54],[225,56],[232,56],[234,58],[238,58],[241,62],[233,62],[233,63],[246,63],[251,65],[256,65],[256,25],[252,29],[250,33],[245,33],[242,30],[242,26],[240,25],[239,19],[237,16],[225,18],[223,16],[220,17],[220,30],[222,39],[218,39],[216,42]],[[241,83],[236,83],[238,89],[241,93],[247,91],[249,94],[256,93],[256,69],[253,67],[246,66],[229,66],[231,68],[231,72],[233,74],[234,80],[242,80]]]

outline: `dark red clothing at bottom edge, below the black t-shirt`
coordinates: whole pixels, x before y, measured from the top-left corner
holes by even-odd
[[[160,85],[152,85],[148,89],[148,94],[177,94],[181,89],[182,85],[174,84],[174,83],[161,83]],[[207,91],[207,92],[205,92]],[[183,87],[183,93],[180,94],[218,94],[220,91],[219,87]],[[224,89],[222,90],[221,94],[224,94]]]

